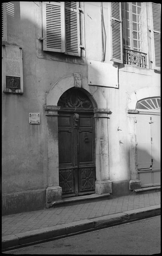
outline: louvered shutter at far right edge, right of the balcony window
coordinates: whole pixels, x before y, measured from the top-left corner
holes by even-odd
[[[160,70],[161,4],[152,3],[154,31],[154,69]]]

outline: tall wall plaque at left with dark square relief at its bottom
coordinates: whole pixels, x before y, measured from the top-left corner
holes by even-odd
[[[3,44],[2,80],[3,93],[23,93],[21,47]]]

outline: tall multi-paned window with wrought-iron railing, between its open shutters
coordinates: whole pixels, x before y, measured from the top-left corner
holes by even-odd
[[[122,3],[123,62],[147,68],[143,50],[142,3]]]

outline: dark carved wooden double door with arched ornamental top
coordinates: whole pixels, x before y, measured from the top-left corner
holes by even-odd
[[[72,87],[61,95],[57,105],[62,197],[95,193],[92,102],[83,90]]]

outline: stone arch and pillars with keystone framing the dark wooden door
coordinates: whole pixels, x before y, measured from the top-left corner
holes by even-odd
[[[73,73],[57,81],[46,97],[44,106],[47,120],[47,189],[46,206],[49,207],[53,201],[61,200],[62,189],[59,186],[59,149],[58,149],[58,111],[57,106],[60,96],[68,89],[78,87],[84,91],[93,104],[95,119],[95,166],[96,181],[95,193],[101,195],[112,193],[112,182],[109,180],[109,115],[112,113],[107,108],[107,101],[102,90],[96,86],[89,86],[87,77],[79,73]],[[101,132],[102,131],[102,132]],[[101,139],[105,140],[101,145]],[[98,154],[99,148],[102,152]]]

